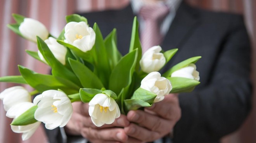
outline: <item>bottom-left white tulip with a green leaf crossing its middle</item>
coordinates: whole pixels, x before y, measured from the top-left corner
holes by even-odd
[[[19,104],[16,104],[12,106],[6,113],[7,117],[16,119],[21,114],[23,114],[25,111],[30,109],[31,107],[35,106],[31,102],[21,102]],[[32,136],[33,133],[35,133],[36,129],[40,125],[41,122],[35,122],[33,124],[28,124],[25,126],[13,126],[11,125],[11,129],[15,133],[23,133],[22,134],[22,140],[27,140]]]

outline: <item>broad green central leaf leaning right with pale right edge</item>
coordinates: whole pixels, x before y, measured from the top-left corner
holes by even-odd
[[[130,86],[132,75],[137,62],[138,49],[126,54],[113,69],[109,78],[109,89],[120,93],[125,87]]]

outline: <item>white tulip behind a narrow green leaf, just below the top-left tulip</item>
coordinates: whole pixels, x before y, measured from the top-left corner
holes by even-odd
[[[67,49],[59,44],[54,37],[49,37],[48,39],[45,40],[45,43],[49,47],[50,51],[54,55],[54,57],[62,63],[62,65],[66,64],[66,54],[67,54]],[[42,61],[47,63],[45,59],[43,58],[42,53],[38,50],[38,56]]]

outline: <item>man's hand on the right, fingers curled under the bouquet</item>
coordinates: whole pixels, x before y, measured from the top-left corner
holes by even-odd
[[[129,111],[127,119],[131,123],[125,127],[128,143],[150,142],[171,132],[181,117],[178,94],[166,95],[164,100],[154,103],[144,111]]]

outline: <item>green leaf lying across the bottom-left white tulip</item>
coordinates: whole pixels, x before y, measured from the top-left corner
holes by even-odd
[[[37,120],[34,117],[36,109],[37,109],[37,106],[33,106],[33,107],[29,108],[26,112],[24,112],[19,117],[14,119],[14,121],[12,121],[11,125],[25,126],[28,124],[36,123]]]

